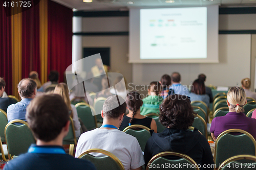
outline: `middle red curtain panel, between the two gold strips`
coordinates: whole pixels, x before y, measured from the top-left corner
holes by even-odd
[[[22,13],[22,78],[37,71],[40,79],[39,5]]]

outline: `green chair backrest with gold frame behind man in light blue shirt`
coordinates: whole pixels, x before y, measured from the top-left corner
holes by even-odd
[[[13,123],[21,123],[23,125],[15,125]],[[28,124],[18,119],[12,120],[6,125],[5,140],[9,160],[11,160],[11,156],[27,153],[30,145],[36,143]]]

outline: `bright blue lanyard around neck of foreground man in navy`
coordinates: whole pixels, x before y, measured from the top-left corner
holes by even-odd
[[[40,148],[36,146],[31,146],[28,152],[37,154],[66,154],[62,148]]]

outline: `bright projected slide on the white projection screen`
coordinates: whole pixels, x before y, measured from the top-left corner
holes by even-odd
[[[140,59],[207,58],[207,8],[140,9]]]

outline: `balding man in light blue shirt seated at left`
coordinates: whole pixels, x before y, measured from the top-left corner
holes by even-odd
[[[32,99],[36,95],[36,83],[32,79],[22,79],[18,83],[18,93],[22,101],[10,105],[7,108],[8,122],[14,119],[20,119],[26,121],[26,109]],[[19,123],[16,123],[18,125]]]

